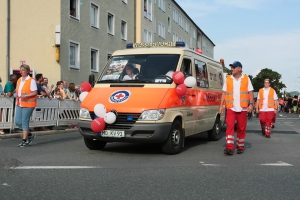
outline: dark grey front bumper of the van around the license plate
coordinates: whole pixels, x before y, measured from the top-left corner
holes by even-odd
[[[113,138],[102,137],[101,133],[95,133],[91,129],[90,121],[79,121],[78,129],[85,138],[96,139],[105,142],[128,142],[128,143],[162,143],[168,139],[172,123],[135,123],[117,124],[117,128],[106,128],[105,130],[125,131],[125,137]],[[125,127],[122,129],[122,127]]]

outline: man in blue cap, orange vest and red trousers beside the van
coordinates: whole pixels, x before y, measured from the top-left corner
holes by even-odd
[[[226,105],[226,148],[224,154],[233,155],[234,152],[234,125],[237,121],[237,153],[244,152],[244,142],[247,126],[247,112],[253,109],[253,86],[246,74],[242,74],[242,64],[235,61],[229,65],[232,75],[227,76],[223,84],[223,93],[219,113],[223,113],[223,102]]]

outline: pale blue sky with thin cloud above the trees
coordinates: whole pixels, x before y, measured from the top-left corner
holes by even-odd
[[[215,60],[238,60],[254,77],[272,69],[286,91],[300,91],[300,0],[176,2],[216,45]]]

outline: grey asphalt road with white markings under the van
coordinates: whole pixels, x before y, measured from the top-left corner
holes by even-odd
[[[186,139],[178,155],[111,143],[90,151],[78,132],[0,140],[0,199],[300,199],[300,118],[278,116],[271,139],[249,121],[243,154],[226,156],[224,131]]]

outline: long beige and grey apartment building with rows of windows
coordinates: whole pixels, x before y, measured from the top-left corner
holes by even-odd
[[[213,58],[213,42],[174,0],[7,0],[0,8],[4,83],[25,63],[50,84],[80,84],[132,42],[184,41]]]

